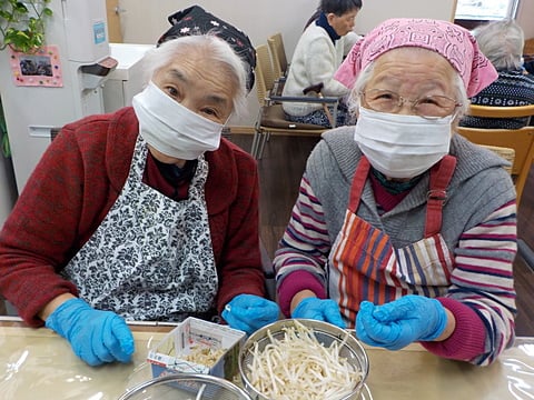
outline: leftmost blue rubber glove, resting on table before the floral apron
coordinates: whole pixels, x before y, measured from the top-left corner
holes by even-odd
[[[46,326],[67,339],[89,366],[129,362],[134,354],[134,337],[125,320],[115,312],[95,310],[81,299],[63,302]]]

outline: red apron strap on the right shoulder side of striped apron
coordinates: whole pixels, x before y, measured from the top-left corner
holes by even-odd
[[[426,194],[425,238],[433,237],[442,230],[442,209],[447,199],[447,186],[456,168],[456,157],[445,156],[431,169],[429,190]]]

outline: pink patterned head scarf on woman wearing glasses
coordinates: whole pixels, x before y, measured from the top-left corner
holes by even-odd
[[[334,78],[352,88],[357,76],[388,50],[418,47],[445,57],[459,72],[471,98],[497,78],[497,71],[464,28],[431,19],[389,19],[356,42]]]

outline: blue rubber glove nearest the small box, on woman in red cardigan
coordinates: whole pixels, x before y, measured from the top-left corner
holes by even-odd
[[[226,304],[222,318],[230,328],[248,334],[278,319],[280,310],[274,301],[254,294],[238,294]]]

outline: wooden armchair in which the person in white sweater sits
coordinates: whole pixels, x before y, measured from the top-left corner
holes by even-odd
[[[270,134],[320,136],[325,130],[322,126],[297,123],[285,118],[283,102],[314,102],[334,107],[333,120],[336,121],[338,98],[328,97],[284,97],[276,94],[273,66],[269,49],[266,44],[256,47],[256,92],[259,101],[258,118],[255,123],[255,133],[250,153],[260,159],[265,143]],[[275,93],[274,93],[275,92]]]

